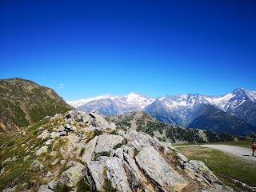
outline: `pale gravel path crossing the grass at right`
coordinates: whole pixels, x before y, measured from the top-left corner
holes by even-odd
[[[198,146],[198,145],[195,145]],[[256,153],[252,156],[253,152],[250,148],[241,147],[241,146],[228,146],[228,145],[200,145],[203,147],[209,147],[214,150],[222,150],[223,152],[233,154],[239,158],[244,158],[247,161],[256,162]],[[193,147],[193,146],[174,146],[174,147]]]

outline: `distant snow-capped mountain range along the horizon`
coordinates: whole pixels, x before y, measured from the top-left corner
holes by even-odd
[[[256,133],[256,91],[243,88],[221,96],[178,94],[150,98],[136,93],[107,94],[67,103],[78,110],[98,110],[105,115],[141,110],[171,125],[240,135]]]

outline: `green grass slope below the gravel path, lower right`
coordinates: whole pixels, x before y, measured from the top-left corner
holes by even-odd
[[[250,190],[232,182],[230,178],[237,179],[249,186],[256,186],[254,162],[246,162],[241,158],[206,147],[179,148],[178,150],[190,159],[204,162],[225,185],[232,187],[235,191]]]

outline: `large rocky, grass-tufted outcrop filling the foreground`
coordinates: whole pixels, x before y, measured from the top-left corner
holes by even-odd
[[[3,191],[233,191],[170,143],[71,110],[1,137]]]

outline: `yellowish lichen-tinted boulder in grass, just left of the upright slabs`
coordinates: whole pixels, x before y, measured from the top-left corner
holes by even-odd
[[[85,166],[78,162],[76,166],[72,166],[70,169],[65,170],[59,178],[58,182],[62,185],[74,187],[77,186],[78,182],[81,180],[84,174]]]

